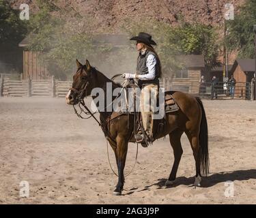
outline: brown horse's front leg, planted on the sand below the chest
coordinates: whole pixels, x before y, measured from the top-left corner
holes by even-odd
[[[122,189],[124,187],[124,166],[126,165],[128,141],[122,136],[117,136],[116,140],[117,140],[117,149],[115,150],[115,157],[117,160],[118,183],[113,193],[115,196],[121,196]]]

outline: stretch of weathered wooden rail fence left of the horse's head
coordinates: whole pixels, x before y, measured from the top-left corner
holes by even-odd
[[[11,80],[1,76],[0,97],[65,97],[71,87],[71,81],[55,80]]]

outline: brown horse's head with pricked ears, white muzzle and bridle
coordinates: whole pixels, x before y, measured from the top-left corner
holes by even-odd
[[[91,67],[89,61],[86,60],[85,65],[82,65],[76,60],[77,71],[73,76],[73,83],[70,91],[66,95],[67,104],[78,104],[81,99],[91,94],[91,72],[94,67]]]

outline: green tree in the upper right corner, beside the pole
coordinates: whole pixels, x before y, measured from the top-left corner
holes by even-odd
[[[256,25],[256,0],[247,0],[234,20],[227,20],[229,35],[225,44],[229,50],[238,50],[238,57],[255,57],[253,25]]]

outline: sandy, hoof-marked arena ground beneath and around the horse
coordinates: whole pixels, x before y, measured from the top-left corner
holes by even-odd
[[[195,161],[186,136],[173,187],[163,185],[173,163],[169,138],[144,149],[126,178],[123,196],[113,196],[106,142],[93,119],[79,119],[63,98],[0,98],[1,204],[255,204],[256,102],[204,100],[208,118],[210,176],[194,189]],[[126,173],[134,163],[130,144]],[[111,151],[111,163],[115,166]],[[116,169],[116,168],[115,168]],[[29,198],[20,198],[20,181]],[[234,196],[226,197],[225,182]],[[226,190],[227,193],[227,190]]]

